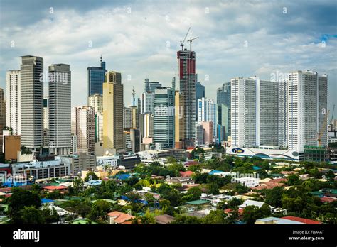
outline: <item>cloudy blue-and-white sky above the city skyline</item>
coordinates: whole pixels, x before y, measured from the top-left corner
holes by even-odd
[[[102,54],[107,70],[122,72],[128,105],[146,77],[171,85],[189,27],[206,97],[232,77],[314,70],[328,75],[329,108],[337,104],[336,0],[0,0],[0,87],[21,55],[37,55],[45,70],[70,64],[73,106],[86,104],[87,67]]]

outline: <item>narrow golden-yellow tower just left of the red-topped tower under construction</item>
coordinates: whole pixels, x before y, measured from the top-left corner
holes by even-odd
[[[183,139],[185,138],[185,114],[183,94],[179,91],[174,92],[174,139],[175,148],[184,148]]]

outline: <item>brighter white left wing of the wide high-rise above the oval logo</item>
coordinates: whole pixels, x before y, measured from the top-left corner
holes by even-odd
[[[230,86],[232,146],[255,146],[255,79],[236,77],[231,79]]]

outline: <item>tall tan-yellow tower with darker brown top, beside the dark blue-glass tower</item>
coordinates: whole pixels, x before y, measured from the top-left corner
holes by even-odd
[[[109,71],[103,84],[103,148],[124,148],[123,108],[122,75]]]

